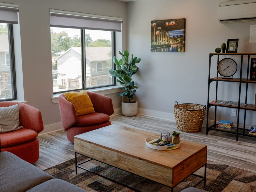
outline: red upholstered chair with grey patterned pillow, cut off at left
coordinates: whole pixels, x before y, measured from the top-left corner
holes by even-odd
[[[37,134],[43,131],[41,111],[30,105],[11,101],[0,102],[0,107],[20,105],[20,126],[22,129],[1,133],[1,150],[9,151],[28,163],[35,163],[39,158]]]

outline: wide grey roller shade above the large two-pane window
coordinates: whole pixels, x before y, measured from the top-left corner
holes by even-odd
[[[51,27],[121,31],[122,18],[50,9]]]

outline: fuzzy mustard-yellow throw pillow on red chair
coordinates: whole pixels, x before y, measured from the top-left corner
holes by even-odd
[[[94,108],[92,101],[87,95],[87,91],[83,90],[80,92],[68,92],[65,93],[66,100],[73,103],[76,108],[76,115],[86,115],[89,113],[94,113]]]

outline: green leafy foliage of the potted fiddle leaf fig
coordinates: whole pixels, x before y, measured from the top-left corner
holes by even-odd
[[[124,92],[119,93],[119,96],[126,96],[125,99],[129,99],[129,103],[131,103],[131,99],[133,98],[133,94],[138,89],[135,86],[134,81],[132,81],[132,75],[134,75],[138,71],[138,67],[135,65],[140,62],[140,58],[131,56],[129,61],[129,52],[124,50],[123,53],[119,51],[119,54],[122,55],[122,59],[117,60],[116,56],[114,57],[114,63],[116,64],[116,70],[109,70],[109,73],[117,77],[117,82],[123,86]]]

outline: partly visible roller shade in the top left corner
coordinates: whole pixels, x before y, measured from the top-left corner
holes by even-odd
[[[19,5],[0,2],[0,23],[18,24]]]

